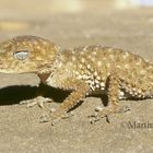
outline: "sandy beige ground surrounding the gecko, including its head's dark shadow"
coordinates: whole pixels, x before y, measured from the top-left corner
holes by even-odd
[[[52,39],[62,48],[102,44],[137,52],[153,61],[153,8],[114,8],[113,1],[0,1],[0,40],[31,34]],[[74,116],[52,127],[39,117],[68,93],[39,83],[35,74],[0,74],[0,153],[152,153],[153,102],[121,101],[131,110],[91,125],[87,116],[102,105],[87,97]],[[22,99],[37,91],[56,101],[26,108]],[[137,126],[133,126],[137,123]],[[139,125],[145,123],[145,127]],[[131,126],[132,125],[132,126]]]

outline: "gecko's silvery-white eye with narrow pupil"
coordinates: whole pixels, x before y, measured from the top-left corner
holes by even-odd
[[[19,60],[25,60],[28,58],[28,51],[27,50],[20,50],[14,52],[14,57]]]

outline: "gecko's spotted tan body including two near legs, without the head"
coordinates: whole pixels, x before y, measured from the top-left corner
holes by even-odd
[[[72,91],[52,114],[55,121],[92,93],[108,95],[108,106],[92,116],[92,121],[118,111],[120,98],[151,98],[153,94],[153,64],[121,49],[102,46],[68,49],[60,54],[55,67],[46,83]]]

